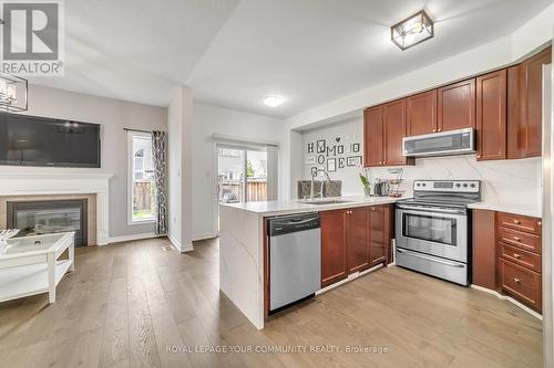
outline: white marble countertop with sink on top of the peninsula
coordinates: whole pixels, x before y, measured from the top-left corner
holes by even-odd
[[[390,197],[347,196],[339,198],[316,199],[317,201],[328,201],[328,200],[340,201],[337,203],[329,203],[329,204],[310,204],[304,202],[302,200],[263,201],[263,202],[246,202],[246,203],[240,202],[240,203],[220,203],[220,204],[248,212],[255,212],[263,217],[268,217],[277,214],[288,214],[288,213],[329,211],[329,210],[338,210],[352,207],[387,204],[387,203],[394,203],[399,199],[403,198],[406,197],[390,198]]]

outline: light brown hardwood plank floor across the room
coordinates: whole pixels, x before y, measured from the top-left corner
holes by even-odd
[[[542,367],[540,320],[399,267],[283,312],[258,332],[218,291],[217,241],[195,249],[178,254],[165,239],[78,249],[76,271],[60,283],[55,304],[45,295],[0,304],[0,366]],[[330,350],[184,350],[217,346]],[[348,346],[387,351],[347,354]]]

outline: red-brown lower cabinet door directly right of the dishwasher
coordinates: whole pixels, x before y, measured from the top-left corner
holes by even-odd
[[[324,211],[321,225],[321,287],[348,276],[346,210]]]

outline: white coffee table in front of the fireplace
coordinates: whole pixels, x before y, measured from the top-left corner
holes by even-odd
[[[11,238],[0,250],[0,302],[48,293],[55,302],[55,287],[74,271],[74,232]],[[69,250],[69,257],[60,255]]]

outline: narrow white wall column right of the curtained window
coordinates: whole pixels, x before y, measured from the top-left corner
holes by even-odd
[[[192,94],[187,87],[174,91],[167,108],[168,238],[181,252],[192,242]]]

